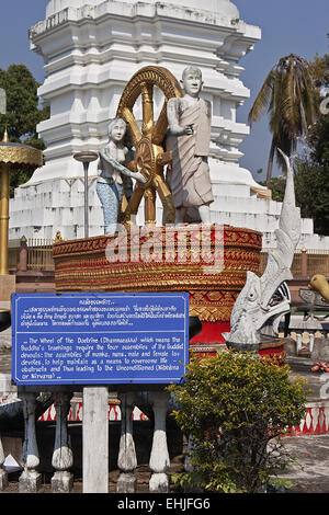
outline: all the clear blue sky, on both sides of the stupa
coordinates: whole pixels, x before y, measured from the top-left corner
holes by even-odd
[[[88,0],[86,0],[88,1]],[[171,0],[173,2],[173,0]],[[27,31],[31,25],[44,19],[48,0],[1,1],[0,67],[11,62],[24,62],[36,80],[43,81],[43,59],[30,50]],[[174,3],[174,2],[173,2]],[[237,119],[247,123],[248,112],[266,73],[280,57],[291,53],[306,59],[316,53],[329,53],[329,0],[234,0],[246,23],[262,30],[262,39],[254,50],[241,59],[245,71],[241,75],[250,99],[239,107]],[[264,118],[251,129],[240,150],[245,153],[240,164],[252,171],[256,180],[263,180],[266,169],[271,136]],[[256,173],[263,169],[263,174]],[[277,174],[277,171],[274,171]]]

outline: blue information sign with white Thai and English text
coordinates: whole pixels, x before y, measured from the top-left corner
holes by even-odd
[[[189,294],[13,294],[16,385],[179,382]]]

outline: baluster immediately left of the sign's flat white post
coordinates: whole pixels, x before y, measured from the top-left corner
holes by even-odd
[[[56,470],[52,478],[54,493],[69,493],[73,487],[73,474],[69,469],[73,465],[72,450],[67,434],[67,417],[70,410],[70,392],[55,394],[56,434],[52,465]]]

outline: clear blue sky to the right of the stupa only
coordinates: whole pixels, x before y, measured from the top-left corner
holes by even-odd
[[[329,0],[235,0],[240,18],[262,30],[262,39],[253,52],[241,59],[241,75],[250,99],[238,110],[238,122],[247,123],[253,100],[270,69],[280,57],[297,54],[313,59],[316,54],[329,53]],[[245,153],[240,164],[253,172],[256,180],[264,180],[271,135],[268,119],[256,123],[239,149]],[[256,171],[262,168],[263,173]],[[277,169],[273,170],[277,175]]]

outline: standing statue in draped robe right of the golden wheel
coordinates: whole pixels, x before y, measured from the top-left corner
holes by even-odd
[[[189,207],[196,207],[201,221],[211,224],[209,204],[214,197],[207,157],[212,105],[200,98],[203,81],[198,68],[185,68],[181,83],[184,96],[170,99],[167,105],[167,150],[172,152],[167,183],[175,207],[175,224],[184,221]]]

